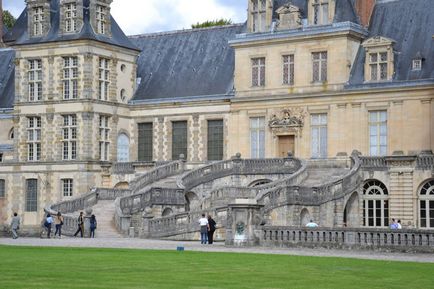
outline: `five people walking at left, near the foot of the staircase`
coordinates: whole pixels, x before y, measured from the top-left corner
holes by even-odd
[[[84,233],[84,217],[83,212],[80,212],[80,215],[77,219],[78,221],[78,229],[74,234],[74,237],[77,237],[78,233],[80,233],[80,236],[83,238]],[[62,226],[63,226],[63,216],[60,212],[58,212],[54,217],[51,214],[47,214],[47,216],[44,219],[43,227],[45,228],[45,231],[47,232],[47,238],[51,238],[51,230],[53,227],[53,224],[55,225],[56,231],[54,232],[54,238],[58,236],[58,238],[62,238]],[[18,216],[17,213],[14,213],[12,220],[11,220],[11,232],[12,232],[12,238],[17,239],[18,238],[18,230],[20,229],[21,219]],[[90,217],[90,238],[95,238],[95,230],[97,227],[96,217],[95,215],[92,215]],[[41,237],[44,231],[41,233]]]

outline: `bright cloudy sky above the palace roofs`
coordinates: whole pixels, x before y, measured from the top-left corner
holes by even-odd
[[[24,0],[3,0],[3,9],[15,17],[24,6]],[[247,0],[114,0],[111,7],[127,35],[189,29],[220,18],[242,23],[247,18]]]

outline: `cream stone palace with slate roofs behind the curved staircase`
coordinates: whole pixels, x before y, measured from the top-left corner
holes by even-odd
[[[323,166],[316,188],[358,151],[355,195],[270,208],[271,224],[434,229],[433,1],[246,0],[242,24],[132,36],[112,0],[25,2],[0,27],[0,225],[182,155],[191,170],[290,152]],[[204,209],[201,189],[169,213]]]

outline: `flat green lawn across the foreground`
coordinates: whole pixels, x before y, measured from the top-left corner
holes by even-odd
[[[0,288],[434,288],[434,264],[0,246]]]

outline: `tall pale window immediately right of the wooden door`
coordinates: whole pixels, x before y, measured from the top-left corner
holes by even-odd
[[[312,158],[327,157],[327,114],[312,114]]]

